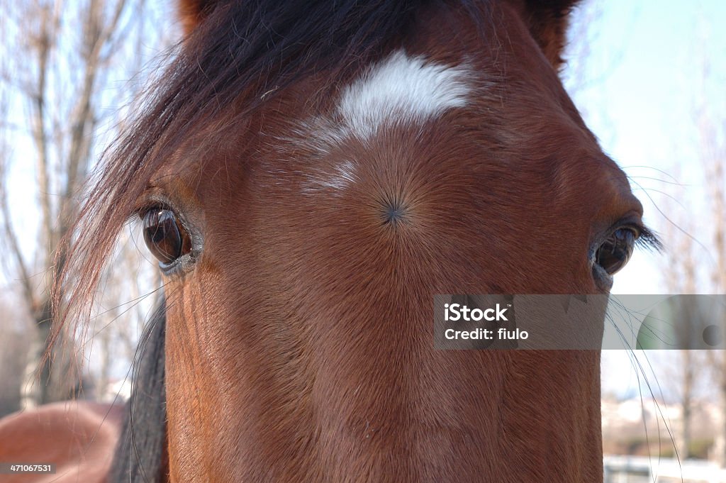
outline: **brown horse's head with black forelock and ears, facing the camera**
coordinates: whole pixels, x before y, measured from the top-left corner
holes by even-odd
[[[431,327],[434,294],[608,293],[658,244],[558,77],[575,4],[179,2],[58,284],[62,330],[129,217],[163,274],[103,481],[602,481],[598,351]]]

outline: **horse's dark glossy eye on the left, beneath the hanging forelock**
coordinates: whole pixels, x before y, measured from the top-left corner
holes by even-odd
[[[144,241],[161,267],[171,265],[192,251],[189,233],[179,223],[174,211],[165,208],[152,208],[142,216]]]

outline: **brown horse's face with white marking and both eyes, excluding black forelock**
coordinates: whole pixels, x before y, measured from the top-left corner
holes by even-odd
[[[433,349],[434,294],[603,293],[640,230],[525,8],[422,11],[158,171],[172,480],[602,478],[597,352]]]

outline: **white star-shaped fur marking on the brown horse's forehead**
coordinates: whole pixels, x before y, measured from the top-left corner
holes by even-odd
[[[359,160],[340,157],[341,150],[355,145],[370,153],[390,131],[415,132],[449,110],[468,107],[482,84],[465,59],[442,62],[397,49],[340,89],[325,111],[293,120],[277,149],[287,154],[291,145],[302,147],[311,160],[335,153],[335,166],[312,163],[303,169],[302,190],[339,192],[359,181]],[[285,169],[277,166],[274,171]]]

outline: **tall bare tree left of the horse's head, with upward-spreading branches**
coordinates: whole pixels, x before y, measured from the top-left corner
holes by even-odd
[[[1,0],[0,243],[6,277],[20,287],[36,334],[25,361],[23,405],[68,397],[63,376],[76,365],[72,341],[57,341],[45,360],[52,325],[49,287],[65,264],[62,245],[78,210],[78,192],[99,145],[114,137],[124,105],[136,95],[126,81],[159,41],[144,0]],[[5,93],[8,93],[5,95]],[[99,136],[104,127],[106,137]],[[8,138],[12,137],[12,142]],[[33,163],[36,207],[19,206],[18,169]],[[15,170],[16,174],[12,174]],[[33,187],[27,187],[33,190]],[[31,222],[37,220],[37,223]],[[28,236],[28,231],[35,236]]]

